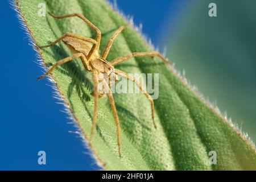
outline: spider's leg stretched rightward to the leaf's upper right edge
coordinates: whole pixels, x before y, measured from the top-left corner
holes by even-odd
[[[143,57],[143,56],[158,56],[165,63],[170,63],[170,61],[166,60],[159,52],[134,52],[134,53],[130,53],[129,55],[125,55],[125,56],[119,57],[117,59],[114,59],[114,60],[110,61],[110,64],[116,65],[116,64],[121,63],[122,61],[130,59],[131,57]]]

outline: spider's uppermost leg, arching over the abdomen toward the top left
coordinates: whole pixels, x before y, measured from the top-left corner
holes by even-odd
[[[98,29],[98,27],[94,26],[94,24],[92,22],[90,22],[87,18],[85,18],[84,15],[79,14],[79,13],[75,13],[75,14],[67,14],[67,15],[61,15],[61,16],[56,16],[52,13],[49,13],[49,15],[53,16],[54,18],[68,18],[68,17],[73,17],[73,16],[77,16],[79,18],[81,18],[82,20],[84,20],[85,23],[88,24],[89,27],[93,28],[93,30],[96,31],[96,42],[98,43],[96,46],[94,45],[94,50],[98,50],[98,47],[100,47],[100,42],[101,42],[101,31],[100,29]]]

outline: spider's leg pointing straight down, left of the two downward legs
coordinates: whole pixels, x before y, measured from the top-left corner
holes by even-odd
[[[93,109],[93,123],[92,123],[92,130],[90,132],[90,142],[92,142],[93,134],[96,129],[96,121],[97,121],[97,113],[98,113],[98,72],[93,70],[93,96],[94,96],[94,109]]]

